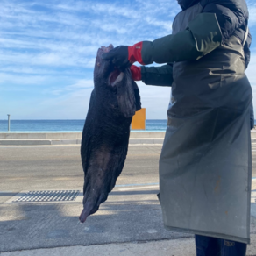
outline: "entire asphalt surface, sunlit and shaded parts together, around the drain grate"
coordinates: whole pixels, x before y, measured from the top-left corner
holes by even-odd
[[[82,202],[6,201],[24,190],[82,190],[80,146],[0,146],[0,252],[189,237],[163,228],[156,196],[160,150],[130,146],[107,202],[78,224]],[[252,156],[256,164],[256,144]]]

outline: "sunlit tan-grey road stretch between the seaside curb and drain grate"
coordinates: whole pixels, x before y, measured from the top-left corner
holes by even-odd
[[[161,146],[130,146],[117,185],[158,182],[160,150]],[[80,146],[0,146],[0,175],[0,191],[82,189]],[[256,178],[256,144],[252,177]]]

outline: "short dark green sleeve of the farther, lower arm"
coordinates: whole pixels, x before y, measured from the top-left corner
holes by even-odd
[[[161,67],[141,67],[142,82],[148,85],[172,86],[173,63]]]

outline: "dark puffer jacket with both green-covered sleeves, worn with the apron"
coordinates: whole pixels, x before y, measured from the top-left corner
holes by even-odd
[[[245,39],[248,25],[248,10],[245,0],[179,0],[182,10],[199,3],[202,13],[192,20],[185,31],[175,35],[144,41],[142,60],[147,64],[168,63],[161,67],[141,67],[142,81],[150,85],[172,86],[173,62],[199,60],[214,51],[222,42],[236,35],[241,42]],[[249,33],[245,42],[245,67],[250,61]]]

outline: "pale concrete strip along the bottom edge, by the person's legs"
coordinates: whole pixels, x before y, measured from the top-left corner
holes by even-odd
[[[247,247],[247,256],[255,256],[256,235]],[[180,238],[152,242],[133,242],[124,244],[68,246],[31,251],[3,252],[2,256],[196,256],[194,238]]]

